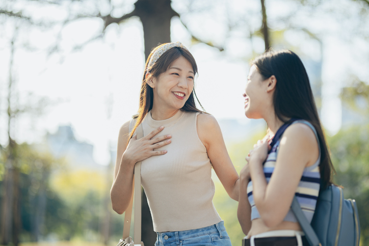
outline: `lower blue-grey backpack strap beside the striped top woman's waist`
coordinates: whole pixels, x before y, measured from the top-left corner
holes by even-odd
[[[297,201],[296,196],[292,201],[291,209],[295,213],[297,221],[300,223],[300,226],[304,231],[306,239],[309,242],[310,246],[318,246],[318,245],[322,246],[317,234],[314,232],[314,229],[312,229],[310,223],[307,221],[305,214],[302,212],[302,209],[300,207],[299,202]]]

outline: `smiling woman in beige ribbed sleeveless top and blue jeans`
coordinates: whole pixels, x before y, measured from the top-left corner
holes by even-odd
[[[231,245],[212,202],[211,170],[236,201],[239,175],[218,122],[196,107],[196,73],[195,59],[181,43],[154,48],[144,70],[138,117],[119,131],[113,209],[122,214],[128,207],[134,167],[142,161],[155,245]],[[137,140],[140,124],[144,137]]]

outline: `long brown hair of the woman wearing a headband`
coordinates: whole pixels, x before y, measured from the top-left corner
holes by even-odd
[[[152,88],[146,83],[146,80],[149,80],[151,76],[157,78],[160,74],[167,71],[167,69],[170,67],[170,65],[177,60],[179,57],[186,58],[192,65],[192,69],[194,70],[194,75],[197,74],[197,65],[194,57],[188,51],[186,48],[181,47],[173,47],[168,49],[165,53],[162,54],[162,56],[157,59],[157,61],[152,65],[151,68],[148,68],[147,65],[150,61],[150,58],[152,54],[157,50],[158,48],[162,47],[165,44],[161,44],[154,49],[149,54],[149,57],[147,58],[144,75],[142,78],[142,85],[141,85],[141,93],[140,93],[140,107],[138,111],[138,115],[135,116],[137,118],[135,127],[133,131],[131,131],[129,138],[132,138],[133,133],[135,132],[136,128],[142,123],[143,119],[147,115],[147,113],[152,109],[152,103],[153,103],[153,90]],[[146,72],[149,72],[146,79]],[[199,105],[201,106],[203,111],[200,111],[196,107],[195,98]],[[202,107],[199,99],[196,96],[195,88],[192,90],[190,97],[187,99],[186,103],[184,103],[183,107],[180,109],[181,111],[187,111],[187,112],[200,112],[205,113],[204,108]]]

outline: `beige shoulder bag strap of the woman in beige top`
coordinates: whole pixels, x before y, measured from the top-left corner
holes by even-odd
[[[137,139],[140,139],[144,135],[142,125],[140,124],[136,129]],[[128,208],[124,213],[124,227],[123,227],[123,239],[129,237],[130,221],[132,216],[133,198],[135,194],[135,231],[134,241],[139,242],[141,245],[141,161],[135,165],[135,176],[134,176],[134,193],[130,199]],[[135,244],[136,245],[136,244]]]

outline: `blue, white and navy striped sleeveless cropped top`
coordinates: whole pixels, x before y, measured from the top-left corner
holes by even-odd
[[[314,165],[304,169],[300,183],[295,193],[297,200],[301,206],[301,209],[303,213],[305,214],[308,222],[310,223],[312,220],[312,216],[314,215],[315,206],[317,205],[317,199],[318,199],[319,189],[320,189],[321,179],[320,179],[319,164],[320,164],[321,151],[320,151],[320,146],[319,146],[318,134],[315,128],[309,122],[305,120],[297,120],[297,121],[294,121],[292,124],[295,124],[295,123],[304,123],[308,125],[315,133],[315,137],[317,138],[318,147],[319,147],[319,157],[318,157],[317,162],[315,162]],[[264,166],[263,166],[263,170],[264,170],[267,182],[269,182],[273,174],[273,171],[274,171],[278,149],[279,149],[279,143],[280,143],[279,140],[273,146],[273,149],[269,153],[264,163]],[[252,181],[250,181],[247,185],[247,196],[248,196],[249,203],[251,205],[251,220],[254,220],[255,218],[259,218],[260,214],[257,211],[257,208],[255,206],[252,191],[253,191]],[[296,216],[291,209],[289,209],[283,221],[297,222]]]

